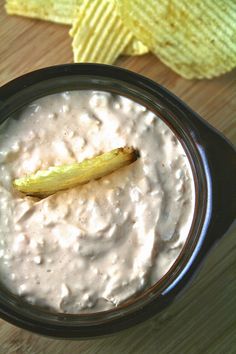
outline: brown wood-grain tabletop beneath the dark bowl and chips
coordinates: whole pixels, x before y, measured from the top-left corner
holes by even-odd
[[[72,62],[68,29],[7,16],[0,0],[0,85],[44,66]],[[236,143],[235,71],[211,81],[187,81],[151,54],[123,57],[116,64],[164,85]],[[0,320],[0,354],[8,353],[236,353],[235,228],[210,253],[181,298],[151,320],[81,342],[40,337]]]

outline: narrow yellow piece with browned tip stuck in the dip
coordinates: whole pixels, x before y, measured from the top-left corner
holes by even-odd
[[[26,195],[46,197],[58,191],[106,176],[131,164],[137,158],[138,152],[134,148],[118,148],[80,163],[39,170],[35,174],[15,179],[13,186]]]

